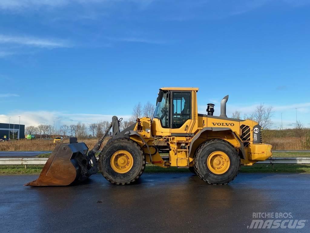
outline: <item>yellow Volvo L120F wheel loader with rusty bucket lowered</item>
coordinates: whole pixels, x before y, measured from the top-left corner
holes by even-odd
[[[56,145],[37,180],[26,185],[69,185],[100,171],[116,185],[135,182],[146,163],[187,168],[209,184],[228,184],[241,165],[253,165],[272,156],[272,145],[262,144],[255,121],[228,118],[225,96],[220,116],[214,104],[197,111],[198,88],[159,89],[153,118],[138,118],[120,131],[116,116],[101,140],[88,152],[85,143],[70,138]],[[112,137],[103,141],[112,129]],[[160,145],[159,145],[160,144]],[[162,156],[162,155],[166,156]]]

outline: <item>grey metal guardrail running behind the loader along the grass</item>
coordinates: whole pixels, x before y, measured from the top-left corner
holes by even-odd
[[[48,158],[0,158],[0,165],[44,165]],[[255,164],[310,164],[310,157],[277,157],[269,158],[265,161],[259,161]]]

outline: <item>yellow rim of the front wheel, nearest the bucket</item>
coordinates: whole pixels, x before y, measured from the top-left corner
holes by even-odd
[[[112,155],[110,164],[114,171],[123,174],[130,171],[134,165],[134,159],[128,151],[119,150]]]

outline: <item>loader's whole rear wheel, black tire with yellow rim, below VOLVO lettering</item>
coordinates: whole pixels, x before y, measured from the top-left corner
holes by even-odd
[[[215,166],[217,162],[219,165]],[[201,144],[196,150],[193,163],[197,176],[213,185],[228,184],[240,171],[240,157],[236,149],[220,139],[211,139]]]

